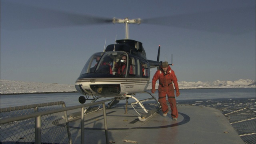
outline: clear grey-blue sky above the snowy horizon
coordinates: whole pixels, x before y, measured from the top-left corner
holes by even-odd
[[[143,43],[149,60],[157,59],[159,45],[160,61],[170,63],[172,54],[178,81],[256,80],[255,5],[255,0],[1,0],[0,78],[74,84],[88,58],[104,50],[105,40],[107,46],[125,38],[124,24],[50,18],[62,12],[79,14],[72,17],[76,22],[88,16],[141,18],[141,24],[129,24],[129,38]],[[151,78],[155,72],[151,69]]]

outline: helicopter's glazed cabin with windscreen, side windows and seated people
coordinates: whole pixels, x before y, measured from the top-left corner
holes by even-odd
[[[123,78],[148,77],[148,62],[124,51],[97,52],[86,62],[81,74],[104,73]]]

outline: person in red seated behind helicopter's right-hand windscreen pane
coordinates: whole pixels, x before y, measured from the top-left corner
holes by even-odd
[[[126,73],[126,66],[127,66],[127,57],[124,55],[122,58],[115,64],[116,68],[116,75],[118,76],[125,76]],[[132,74],[132,67],[130,68],[130,74]]]

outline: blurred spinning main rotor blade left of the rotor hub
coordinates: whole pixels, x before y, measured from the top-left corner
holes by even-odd
[[[8,30],[106,23],[112,19],[1,2],[1,28]]]

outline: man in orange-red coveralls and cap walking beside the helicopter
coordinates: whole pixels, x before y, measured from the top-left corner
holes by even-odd
[[[151,92],[154,94],[156,91],[156,81],[159,79],[158,86],[158,102],[162,107],[163,116],[167,116],[167,112],[169,111],[168,105],[166,102],[166,94],[168,97],[168,102],[170,103],[170,107],[172,110],[172,120],[177,120],[178,118],[178,110],[176,107],[176,100],[174,95],[174,88],[172,83],[176,89],[176,96],[180,95],[179,86],[177,82],[176,75],[171,67],[168,65],[168,62],[163,62],[162,66],[160,66],[160,70],[157,70],[152,79],[152,90]]]

